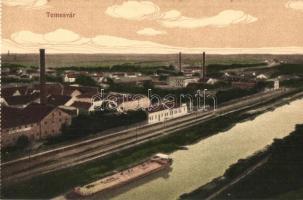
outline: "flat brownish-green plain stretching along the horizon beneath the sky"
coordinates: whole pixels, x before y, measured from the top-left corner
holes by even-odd
[[[207,52],[206,52],[207,53]],[[255,64],[266,59],[287,60],[290,63],[303,63],[302,55],[214,55],[206,54],[206,64]],[[201,54],[182,54],[182,63],[200,66]],[[27,66],[38,66],[38,54],[2,54],[2,63],[15,63]],[[47,54],[48,67],[111,67],[117,64],[130,63],[142,67],[168,66],[178,63],[177,54]]]

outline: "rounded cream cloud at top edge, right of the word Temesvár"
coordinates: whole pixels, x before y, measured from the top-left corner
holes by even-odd
[[[160,8],[150,1],[125,1],[121,5],[113,5],[105,13],[111,17],[129,20],[157,18]]]

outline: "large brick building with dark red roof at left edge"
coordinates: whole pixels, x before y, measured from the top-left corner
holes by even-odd
[[[63,126],[71,123],[71,116],[54,106],[32,103],[25,108],[2,106],[1,109],[2,147],[16,144],[22,135],[30,141],[56,136]]]

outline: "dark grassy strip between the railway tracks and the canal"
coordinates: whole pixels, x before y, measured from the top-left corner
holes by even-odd
[[[272,102],[270,105],[272,105]],[[4,188],[2,194],[6,198],[50,198],[62,194],[77,185],[97,180],[114,169],[125,168],[129,164],[159,151],[173,152],[182,146],[196,143],[210,135],[225,131],[237,122],[243,121],[244,113],[238,112],[224,117],[221,116],[194,128],[165,136],[104,159],[33,178],[16,184],[14,187]],[[245,114],[245,119],[247,120],[251,116],[253,115]],[[52,187],[49,187],[50,185]]]

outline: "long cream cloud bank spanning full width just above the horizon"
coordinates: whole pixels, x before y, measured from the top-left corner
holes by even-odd
[[[238,53],[271,53],[303,54],[303,47],[264,47],[264,48],[190,48],[164,45],[152,41],[131,40],[128,38],[96,35],[92,38],[65,29],[41,34],[31,31],[20,31],[10,39],[2,39],[2,53],[38,53],[45,48],[47,53],[201,53],[238,54]]]

